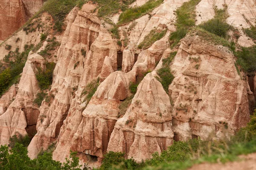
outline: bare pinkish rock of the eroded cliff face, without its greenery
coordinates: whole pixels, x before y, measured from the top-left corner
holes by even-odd
[[[31,158],[55,144],[53,158],[58,161],[64,161],[70,150],[78,151],[82,162],[101,161],[110,150],[141,161],[156,151],[161,153],[173,141],[229,138],[246,125],[250,105],[255,103],[256,78],[237,73],[233,53],[192,33],[177,49],[170,48],[174,11],[183,2],[164,0],[151,15],[120,26],[122,46],[108,31],[110,26],[93,13],[96,4],[73,8],[66,17],[65,31],[56,35],[60,46],[47,58],[37,53],[46,48],[47,41],[38,51],[31,51],[20,82],[1,97],[0,144],[8,144],[15,133],[36,133],[28,147]],[[249,0],[227,3],[227,21],[239,31],[254,24],[256,8],[250,4]],[[197,24],[214,16],[212,5],[222,6],[222,2],[202,0],[198,4]],[[243,10],[234,12],[235,5]],[[208,13],[202,11],[208,8]],[[235,16],[247,25],[232,22]],[[41,21],[52,22],[47,18],[44,13]],[[167,30],[166,35],[147,49],[137,48],[153,29]],[[25,44],[38,44],[41,33],[19,31],[0,46],[0,59],[8,54],[5,44],[23,51]],[[244,34],[238,42],[254,44]],[[169,68],[175,79],[166,92],[157,70],[173,51],[177,54]],[[33,103],[40,92],[35,73],[47,62],[56,63],[47,90],[51,98],[38,108]],[[139,84],[136,94],[129,89],[131,83]],[[94,94],[89,94],[91,88],[95,88]],[[128,104],[121,113],[125,102]]]

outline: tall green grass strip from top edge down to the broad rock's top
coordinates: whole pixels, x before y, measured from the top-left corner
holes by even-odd
[[[190,28],[195,26],[195,6],[197,6],[200,1],[201,0],[190,0],[189,2],[183,3],[183,5],[175,11],[177,14],[177,22],[175,24],[177,31],[172,32],[169,37],[172,47],[177,45],[177,43],[186,36]]]

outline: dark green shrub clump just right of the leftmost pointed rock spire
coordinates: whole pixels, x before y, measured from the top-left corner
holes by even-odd
[[[38,80],[38,85],[41,90],[46,90],[52,85],[52,73],[55,68],[55,63],[47,63],[46,69],[42,70],[38,68],[38,72],[35,74],[36,79]]]

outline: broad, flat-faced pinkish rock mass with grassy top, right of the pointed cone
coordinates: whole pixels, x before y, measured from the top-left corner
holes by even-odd
[[[206,140],[209,134],[221,138],[246,125],[247,87],[234,63],[227,48],[196,36],[183,39],[171,66],[175,79],[169,86],[173,131],[179,140]]]

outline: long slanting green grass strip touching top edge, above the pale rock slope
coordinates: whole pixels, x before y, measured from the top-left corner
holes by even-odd
[[[161,3],[163,3],[163,0],[149,0],[143,6],[138,6],[138,7],[129,8],[129,9],[125,10],[119,16],[118,25],[125,24],[125,23],[131,22],[133,20],[136,20],[137,18],[152,11],[154,8],[159,6]]]

